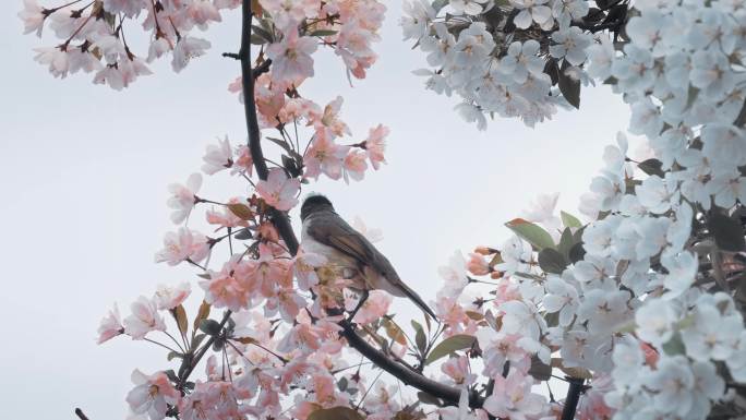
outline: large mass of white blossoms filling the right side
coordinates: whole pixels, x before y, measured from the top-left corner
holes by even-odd
[[[581,199],[589,224],[557,217],[556,195],[542,196],[507,224],[516,237],[468,261],[457,254],[442,271],[446,334],[478,339],[485,376],[540,377],[538,359],[591,380],[583,419],[746,412],[736,395],[746,382],[738,4],[638,2],[626,43],[615,49],[600,34],[589,46],[588,74],[624,95],[629,131],[646,136],[648,153],[630,159],[624,134],[606,147]]]

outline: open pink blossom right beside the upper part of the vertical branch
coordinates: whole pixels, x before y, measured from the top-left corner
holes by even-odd
[[[313,76],[313,59],[311,55],[318,47],[316,40],[298,36],[298,28],[292,25],[285,28],[282,40],[267,47],[267,57],[272,59],[273,79],[288,85],[299,85],[306,77]]]

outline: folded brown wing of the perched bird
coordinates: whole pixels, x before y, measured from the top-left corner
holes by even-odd
[[[389,281],[399,280],[392,263],[364,236],[336,214],[310,219],[306,231],[315,241],[349,255],[361,266],[370,266]]]

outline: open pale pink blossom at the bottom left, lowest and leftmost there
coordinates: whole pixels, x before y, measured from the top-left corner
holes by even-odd
[[[151,420],[163,420],[168,405],[178,405],[181,399],[181,395],[164,372],[148,376],[135,369],[132,372],[132,382],[135,387],[127,394],[127,403],[134,413],[147,413]]]

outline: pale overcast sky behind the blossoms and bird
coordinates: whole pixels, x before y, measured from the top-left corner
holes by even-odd
[[[67,419],[76,406],[92,420],[124,418],[132,369],[167,369],[166,358],[127,338],[97,346],[96,328],[115,301],[127,314],[158,283],[195,285],[194,271],[156,265],[153,254],[173,229],[166,185],[197,171],[216,136],[245,139],[242,108],[227,92],[239,67],[219,57],[238,48],[239,15],[224,15],[206,34],[209,55],[181,74],[158,63],[156,74],[117,93],[91,75],[55,80],[33,61],[39,40],[21,35],[21,0],[5,3],[13,12],[0,14],[3,418]],[[560,207],[577,214],[628,110],[606,87],[589,88],[580,111],[560,111],[536,129],[497,119],[479,132],[453,111],[455,98],[424,91],[411,74],[424,57],[400,40],[399,2],[388,4],[369,79],[351,88],[341,63],[323,55],[303,91],[320,103],[342,95],[344,119],[359,140],[388,125],[388,165],[360,183],[321,181],[305,191],[383,229],[378,248],[430,300],[438,265],[455,250],[502,243],[503,224],[537,194],[561,192]],[[222,201],[242,190],[215,177],[203,191]],[[190,315],[201,299],[194,295]],[[401,300],[395,311],[414,313]]]

